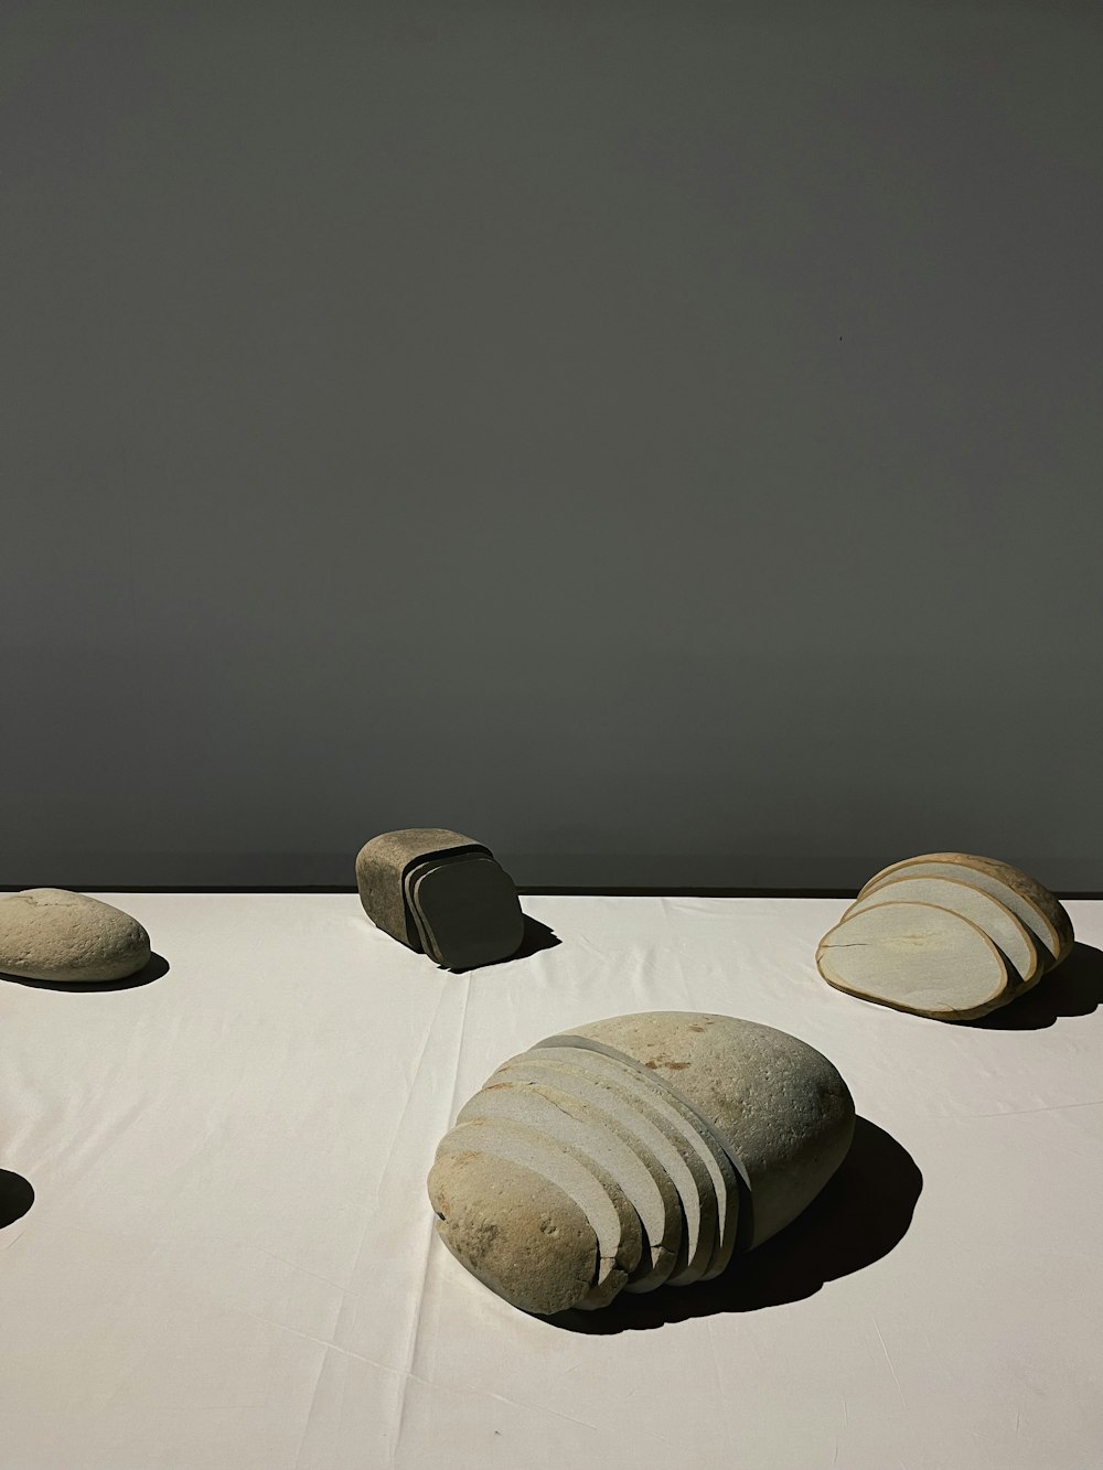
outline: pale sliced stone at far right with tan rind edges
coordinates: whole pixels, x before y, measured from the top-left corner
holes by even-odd
[[[1022,995],[1074,944],[1040,882],[971,853],[924,853],[865,885],[819,942],[828,985],[935,1020],[972,1020]]]

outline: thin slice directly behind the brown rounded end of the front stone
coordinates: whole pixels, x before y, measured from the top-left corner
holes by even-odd
[[[643,1255],[640,1217],[621,1186],[577,1148],[509,1119],[459,1123],[438,1144],[437,1158],[466,1150],[522,1164],[574,1200],[597,1239],[597,1270],[585,1297],[575,1305],[587,1310],[607,1305],[628,1283]]]

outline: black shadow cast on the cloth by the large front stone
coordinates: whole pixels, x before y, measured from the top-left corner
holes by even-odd
[[[922,1186],[907,1150],[859,1117],[850,1152],[807,1210],[765,1245],[735,1257],[722,1276],[643,1297],[621,1292],[599,1311],[544,1320],[566,1332],[606,1335],[803,1301],[887,1255],[906,1235]]]

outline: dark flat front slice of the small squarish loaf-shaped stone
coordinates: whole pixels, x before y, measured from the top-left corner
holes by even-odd
[[[444,969],[494,964],[521,948],[525,916],[518,891],[491,857],[422,866],[407,892],[425,948]]]

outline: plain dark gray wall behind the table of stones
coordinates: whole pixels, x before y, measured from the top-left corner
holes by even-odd
[[[0,882],[1103,888],[1099,4],[0,56]]]

